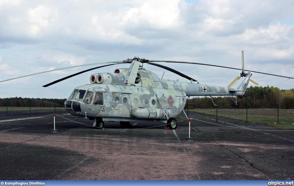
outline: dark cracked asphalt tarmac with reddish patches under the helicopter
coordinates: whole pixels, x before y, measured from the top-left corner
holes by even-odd
[[[51,134],[50,112],[0,113],[0,180],[294,180],[293,130],[190,112],[186,142],[187,120],[93,129],[58,115]]]

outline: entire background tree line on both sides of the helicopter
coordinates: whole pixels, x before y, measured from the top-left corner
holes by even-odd
[[[31,100],[30,100],[31,99]],[[270,108],[277,109],[294,109],[294,88],[283,90],[277,87],[250,86],[243,96],[237,96],[236,105],[228,96],[213,97],[214,104],[218,103],[220,108]],[[66,99],[46,99],[46,98],[8,98],[9,107],[64,107]],[[216,108],[210,97],[194,97],[188,98],[189,103],[195,104],[195,108]],[[30,103],[31,102],[31,103]],[[0,98],[0,106],[6,107],[7,98]]]

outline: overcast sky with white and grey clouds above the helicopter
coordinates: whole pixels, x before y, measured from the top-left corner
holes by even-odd
[[[242,50],[245,69],[294,77],[293,7],[294,1],[277,0],[0,0],[0,80],[134,56],[241,68]],[[226,87],[240,75],[218,67],[164,65],[208,85]],[[104,67],[50,88],[42,86],[95,66],[6,81],[0,98],[68,98],[91,74],[128,66]],[[144,68],[186,81],[155,66]],[[294,88],[293,79],[257,73],[252,79],[260,86]]]

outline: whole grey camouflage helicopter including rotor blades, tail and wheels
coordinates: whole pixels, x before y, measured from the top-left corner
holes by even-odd
[[[244,72],[244,60],[242,51],[242,73],[238,76],[228,87],[204,85],[193,83],[195,79],[182,74],[169,67],[156,64],[153,62],[170,62],[170,63],[188,63],[200,64],[192,62],[178,62],[178,61],[158,61],[140,59],[135,56],[133,59],[124,61],[107,62],[110,66],[114,64],[130,63],[129,68],[118,68],[113,73],[96,73],[90,76],[90,84],[78,86],[71,93],[69,98],[65,101],[66,110],[76,116],[88,117],[94,120],[93,127],[103,128],[104,121],[119,121],[121,125],[127,126],[130,122],[153,122],[160,121],[167,124],[170,129],[177,128],[177,120],[175,117],[183,111],[186,104],[186,97],[188,96],[240,96],[243,95],[248,86],[248,82],[252,76],[250,71]],[[151,64],[159,66],[166,70],[172,71],[191,82],[172,81],[160,79],[156,74],[146,70],[140,64]],[[103,64],[103,63],[98,63]],[[106,64],[106,63],[104,63]],[[94,64],[87,64],[94,65]],[[79,65],[86,66],[86,65]],[[104,66],[98,66],[88,69],[71,76],[59,79],[43,87],[47,87],[76,76],[78,74],[98,69]],[[217,66],[217,65],[209,65]],[[77,66],[73,66],[77,67]],[[230,68],[218,66],[223,68]],[[68,67],[72,68],[72,67]],[[66,69],[66,68],[62,68]],[[236,68],[230,68],[236,69]],[[61,69],[55,69],[61,70]],[[55,71],[51,70],[51,71]],[[248,70],[245,70],[248,71]],[[49,72],[49,71],[45,71]],[[41,73],[45,73],[41,72]],[[262,73],[262,72],[257,72]],[[40,73],[36,73],[40,74]],[[267,73],[262,73],[267,74]],[[35,74],[30,74],[35,75]],[[30,76],[27,75],[27,76]],[[269,74],[274,75],[274,74]],[[279,75],[274,75],[279,76]],[[21,76],[25,77],[25,76]],[[17,78],[21,78],[17,77]],[[231,88],[231,86],[241,77],[245,77],[238,88]],[[286,76],[280,76],[286,77]],[[286,77],[291,78],[292,77]],[[16,78],[13,78],[16,79]],[[11,79],[8,79],[11,80]],[[8,81],[4,80],[4,81]],[[1,82],[1,81],[0,81]],[[236,97],[234,100],[236,102]]]

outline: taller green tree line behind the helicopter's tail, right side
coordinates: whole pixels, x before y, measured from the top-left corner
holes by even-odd
[[[236,105],[228,96],[213,97],[213,102],[218,102],[218,108],[270,108],[294,109],[294,88],[283,90],[277,87],[250,86],[243,96],[237,96]],[[188,98],[189,103],[195,104],[195,108],[216,108],[210,97]]]

